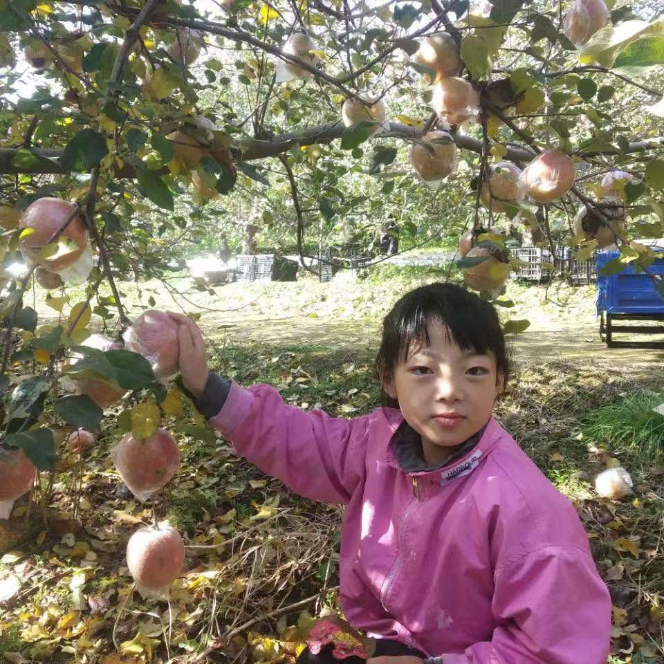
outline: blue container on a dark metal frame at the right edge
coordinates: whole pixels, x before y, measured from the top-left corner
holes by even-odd
[[[664,250],[653,249],[661,254],[661,259],[656,259],[648,270],[664,275]],[[618,251],[597,252],[597,312],[664,315],[664,299],[655,291],[652,280],[645,273],[637,273],[633,267],[627,266],[617,275],[602,276],[602,268],[618,256]]]

